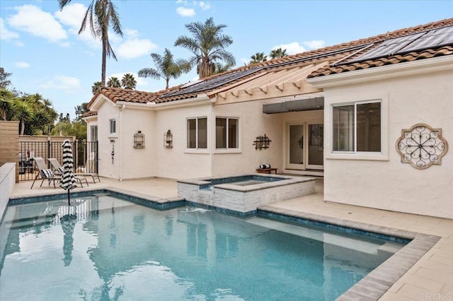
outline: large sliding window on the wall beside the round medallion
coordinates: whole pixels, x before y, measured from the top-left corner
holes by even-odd
[[[381,102],[333,106],[332,151],[381,151]]]

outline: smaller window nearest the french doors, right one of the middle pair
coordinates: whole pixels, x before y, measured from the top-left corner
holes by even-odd
[[[239,120],[237,118],[217,117],[215,119],[215,148],[238,148]]]

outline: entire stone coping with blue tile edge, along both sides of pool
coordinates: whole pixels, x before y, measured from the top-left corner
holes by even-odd
[[[84,189],[84,191],[74,191],[71,196],[85,196],[86,194],[105,193],[111,192],[117,196],[122,196],[129,201],[139,203],[144,206],[156,208],[159,210],[166,210],[176,208],[179,206],[193,206],[193,202],[186,201],[184,198],[161,198],[158,196],[150,196],[149,194],[142,194],[135,191],[126,189],[119,189],[117,187],[103,187],[102,189]],[[27,196],[13,196],[8,200],[8,205],[15,205],[20,203],[29,203],[25,199],[38,198],[42,201],[64,198],[67,196],[66,191],[61,193],[48,193],[48,194],[33,194]],[[133,199],[133,200],[132,200]],[[31,202],[30,202],[31,203]],[[212,208],[215,210],[214,208]],[[226,214],[234,214],[234,212],[221,211]],[[338,230],[357,230],[358,232],[367,232],[379,235],[384,235],[384,239],[388,237],[401,238],[402,240],[410,241],[406,246],[401,248],[398,252],[392,255],[389,259],[380,264],[373,271],[368,273],[359,282],[352,285],[343,295],[340,295],[337,300],[378,300],[382,297],[389,288],[391,288],[401,276],[403,276],[418,260],[428,252],[441,237],[437,235],[428,235],[419,232],[411,232],[406,230],[399,230],[379,225],[371,225],[367,223],[359,223],[352,220],[344,220],[340,218],[333,218],[329,216],[321,216],[314,213],[306,213],[302,211],[292,211],[285,208],[277,208],[272,205],[258,206],[256,216],[265,216],[266,218],[280,219],[292,221],[296,223],[308,223],[310,225],[332,225]],[[243,216],[245,217],[245,216]],[[0,219],[0,223],[3,217]],[[369,235],[370,236],[370,235]]]

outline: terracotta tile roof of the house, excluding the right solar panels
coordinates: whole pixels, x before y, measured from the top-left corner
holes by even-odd
[[[385,40],[389,40],[395,37],[403,37],[405,35],[411,35],[413,33],[421,33],[423,31],[432,30],[435,28],[442,28],[453,25],[453,18],[440,20],[425,25],[417,25],[411,28],[403,28],[395,30],[382,35],[376,35],[373,37],[366,37],[364,39],[355,40],[352,42],[345,42],[339,45],[333,45],[329,47],[323,47],[320,49],[311,50],[308,52],[302,52],[299,54],[292,54],[287,57],[279,59],[272,59],[269,61],[263,61],[258,64],[241,66],[237,69],[226,71],[224,73],[215,74],[213,76],[203,78],[202,81],[198,81],[192,84],[177,85],[166,90],[161,90],[155,93],[137,91],[137,90],[125,90],[122,88],[108,88],[103,87],[99,90],[91,101],[88,103],[88,108],[91,107],[94,100],[98,98],[101,93],[106,98],[113,102],[118,100],[125,102],[171,102],[175,100],[183,100],[187,98],[195,98],[197,95],[219,90],[222,88],[227,89],[229,86],[247,79],[252,79],[260,72],[273,71],[275,69],[283,69],[294,66],[305,66],[308,64],[318,64],[322,61],[329,61],[333,63],[343,59],[342,65],[340,66],[328,66],[323,69],[319,69],[311,73],[307,78],[313,78],[316,76],[326,76],[328,74],[342,73],[347,71],[354,71],[359,69],[367,69],[375,66],[383,66],[386,64],[398,64],[404,61],[415,61],[418,59],[428,59],[431,57],[439,57],[442,55],[452,55],[453,45],[440,47],[439,49],[425,49],[421,52],[410,52],[403,55],[394,55],[391,57],[373,59],[368,61],[362,61],[360,63],[345,64],[351,61],[363,52],[369,51],[373,47],[377,47]],[[366,49],[365,49],[366,48]],[[255,70],[251,70],[255,69]],[[251,71],[251,72],[247,72]],[[219,81],[219,78],[226,78],[224,81]],[[212,84],[211,84],[212,83]],[[199,85],[200,88],[194,88],[195,85]],[[210,96],[214,97],[214,95]]]

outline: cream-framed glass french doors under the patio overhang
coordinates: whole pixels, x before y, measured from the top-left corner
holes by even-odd
[[[287,124],[287,163],[290,170],[323,170],[323,123]]]

